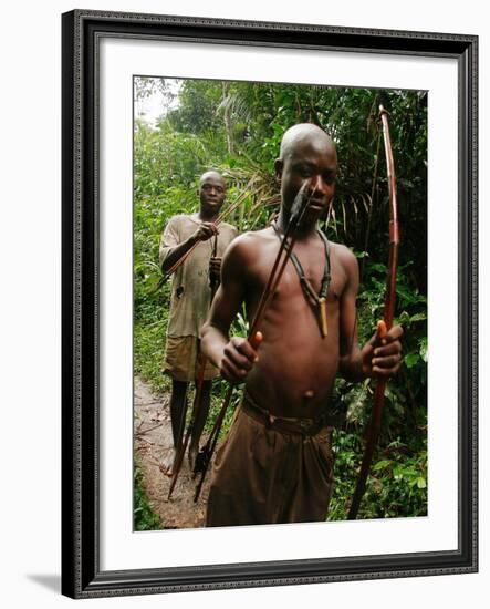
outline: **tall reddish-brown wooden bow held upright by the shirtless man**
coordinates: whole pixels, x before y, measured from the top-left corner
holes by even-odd
[[[396,302],[396,269],[398,266],[398,205],[396,199],[396,177],[395,177],[395,163],[393,159],[392,141],[389,137],[388,113],[379,106],[379,118],[383,124],[383,138],[385,144],[386,154],[386,168],[388,175],[388,192],[389,192],[389,259],[388,259],[388,276],[386,282],[386,297],[385,297],[385,310],[384,321],[386,324],[386,331],[389,331],[393,327],[393,318],[395,316],[395,302]],[[379,434],[382,412],[385,401],[386,379],[379,378],[377,381],[376,390],[373,399],[373,411],[371,415],[371,422],[366,433],[366,447],[364,451],[363,462],[361,465],[361,472],[357,478],[357,484],[354,491],[354,495],[348,510],[347,518],[354,520],[359,509],[361,499],[363,498],[367,475],[369,473],[371,463],[373,461],[374,450],[376,447],[377,437]]]

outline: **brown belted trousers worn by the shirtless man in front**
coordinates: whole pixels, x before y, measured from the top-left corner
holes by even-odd
[[[216,455],[206,526],[325,520],[331,440],[326,417],[273,417],[246,392]]]

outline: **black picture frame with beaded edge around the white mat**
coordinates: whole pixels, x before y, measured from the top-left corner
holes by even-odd
[[[458,62],[458,549],[102,571],[98,519],[98,44],[104,37]],[[62,16],[62,592],[72,598],[478,570],[478,37],[75,10]]]

